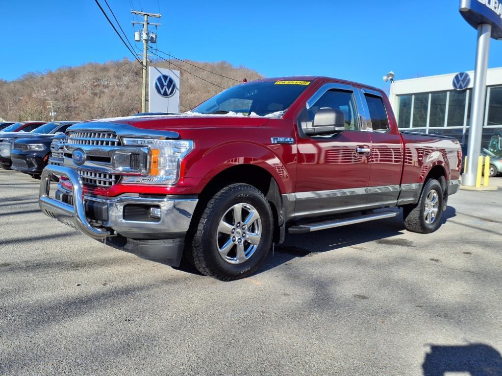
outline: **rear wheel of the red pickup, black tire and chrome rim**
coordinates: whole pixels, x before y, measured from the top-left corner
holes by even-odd
[[[418,204],[403,208],[406,229],[419,234],[430,234],[436,231],[441,225],[443,202],[443,189],[439,181],[428,180]]]

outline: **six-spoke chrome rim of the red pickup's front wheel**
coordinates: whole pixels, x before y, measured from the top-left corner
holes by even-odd
[[[262,238],[262,219],[249,204],[235,204],[221,217],[216,247],[223,260],[241,264],[257,250]]]

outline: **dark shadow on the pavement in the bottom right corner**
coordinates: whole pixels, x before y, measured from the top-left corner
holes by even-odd
[[[461,346],[430,345],[422,369],[424,376],[444,376],[466,372],[471,376],[502,376],[502,356],[484,343]]]

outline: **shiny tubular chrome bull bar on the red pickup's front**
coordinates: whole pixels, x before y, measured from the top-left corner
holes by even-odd
[[[66,176],[72,185],[73,205],[63,203],[49,197],[51,176]],[[104,239],[110,232],[104,228],[96,228],[89,224],[85,215],[84,192],[77,171],[58,165],[48,165],[42,171],[40,180],[39,206],[47,216],[75,227],[85,235],[94,239]]]

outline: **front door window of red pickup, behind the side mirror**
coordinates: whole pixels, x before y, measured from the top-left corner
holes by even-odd
[[[324,93],[309,109],[305,108],[299,116],[299,123],[303,129],[310,127],[314,116],[321,108],[333,108],[343,112],[345,116],[345,130],[359,130],[357,109],[351,91],[331,89]],[[308,125],[307,125],[308,124]]]

